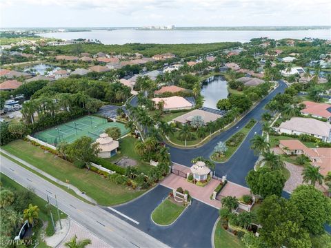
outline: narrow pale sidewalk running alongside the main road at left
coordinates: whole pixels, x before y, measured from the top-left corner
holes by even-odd
[[[17,158],[17,156],[14,156],[10,154],[9,152],[4,151],[0,148],[0,152],[3,154],[6,154],[7,156],[10,156],[10,158],[13,158],[14,160],[18,161],[19,163],[22,163],[23,165],[26,165],[30,169],[33,169],[35,172],[38,172],[39,174],[45,176],[46,178],[54,181],[55,183],[58,183],[59,185],[67,187],[67,189],[72,189],[74,193],[76,193],[78,196],[81,196],[82,198],[88,200],[90,203],[97,204],[95,200],[90,198],[89,196],[86,196],[86,194],[83,194],[77,187],[74,187],[73,185],[70,185],[69,183],[64,183],[61,180],[54,178],[54,176],[51,176],[50,174],[47,174],[46,172],[43,172],[41,169],[38,169],[37,167],[34,167],[30,163],[27,163],[26,161],[23,161],[21,158]]]

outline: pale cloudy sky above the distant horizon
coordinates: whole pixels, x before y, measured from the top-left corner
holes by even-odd
[[[1,28],[331,25],[330,0],[0,0]]]

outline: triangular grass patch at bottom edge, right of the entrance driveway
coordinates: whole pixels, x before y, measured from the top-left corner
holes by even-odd
[[[225,231],[221,225],[221,221],[217,223],[214,235],[215,248],[244,248],[243,242],[237,237]]]

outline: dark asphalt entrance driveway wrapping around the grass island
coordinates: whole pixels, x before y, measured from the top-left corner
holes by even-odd
[[[212,247],[212,228],[219,217],[218,210],[198,200],[193,199],[192,205],[183,212],[173,225],[159,227],[152,223],[150,214],[161,203],[162,198],[168,196],[169,192],[170,189],[158,185],[140,198],[114,207],[114,209],[136,220],[139,224],[132,223],[132,221],[110,209],[108,211],[170,247]]]

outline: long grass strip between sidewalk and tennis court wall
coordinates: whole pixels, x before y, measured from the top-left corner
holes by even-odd
[[[2,148],[63,182],[69,180],[70,184],[86,192],[100,205],[125,203],[145,192],[117,185],[87,169],[79,169],[72,163],[54,154],[46,153],[43,149],[26,141],[13,141]]]

